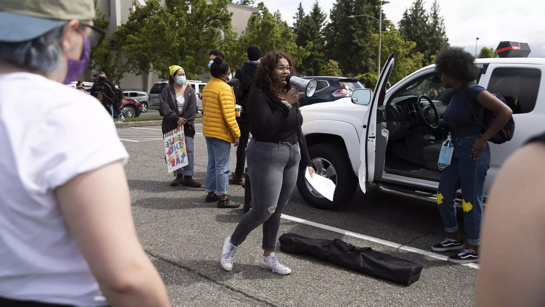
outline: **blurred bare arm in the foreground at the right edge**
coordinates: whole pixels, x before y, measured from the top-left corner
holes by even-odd
[[[483,223],[479,307],[545,305],[545,145],[533,143],[504,164]]]

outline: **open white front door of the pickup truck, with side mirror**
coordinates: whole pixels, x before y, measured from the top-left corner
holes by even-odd
[[[365,113],[364,119],[361,124],[360,132],[360,168],[358,170],[358,179],[360,181],[361,191],[366,192],[367,182],[373,182],[374,180],[374,168],[375,168],[375,146],[378,133],[377,125],[377,106],[381,105],[386,95],[386,84],[390,79],[390,74],[393,69],[393,62],[395,56],[390,54],[390,57],[386,60],[382,72],[378,76],[377,85],[375,87],[372,97],[370,97],[370,90],[356,89],[352,93],[352,103],[359,105],[365,105],[369,103],[369,109]],[[365,91],[366,90],[366,91]]]

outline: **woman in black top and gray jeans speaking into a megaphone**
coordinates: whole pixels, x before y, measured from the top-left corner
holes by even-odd
[[[271,51],[261,60],[253,82],[254,92],[246,110],[252,134],[246,159],[253,205],[240,219],[233,235],[223,242],[220,262],[226,271],[233,269],[238,245],[263,224],[263,256],[259,266],[281,275],[292,272],[274,254],[280,215],[292,195],[299,171],[308,169],[312,176],[314,169],[301,133],[299,90],[290,89],[286,82],[291,73],[294,69],[289,54]]]

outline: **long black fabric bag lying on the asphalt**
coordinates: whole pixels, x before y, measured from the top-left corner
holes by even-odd
[[[312,239],[296,234],[280,236],[280,250],[286,253],[312,255],[336,265],[374,277],[410,285],[420,278],[422,266],[409,260],[372,250],[355,247],[339,239]]]

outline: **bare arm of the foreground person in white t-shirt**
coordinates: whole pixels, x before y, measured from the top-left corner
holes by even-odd
[[[121,162],[78,175],[58,187],[56,194],[108,303],[169,306],[165,285],[138,242]]]

